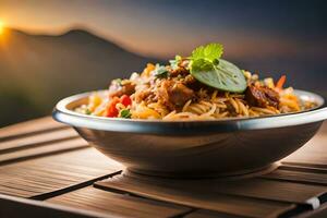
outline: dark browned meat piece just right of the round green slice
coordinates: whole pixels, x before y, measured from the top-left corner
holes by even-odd
[[[279,105],[278,93],[266,86],[249,85],[245,90],[245,99],[251,106],[256,107],[272,106],[277,108]]]

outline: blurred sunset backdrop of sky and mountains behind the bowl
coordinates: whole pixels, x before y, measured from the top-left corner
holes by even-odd
[[[147,62],[221,43],[241,69],[327,97],[324,0],[0,0],[0,126]]]

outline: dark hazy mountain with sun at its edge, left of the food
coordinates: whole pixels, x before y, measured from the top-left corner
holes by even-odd
[[[0,36],[0,126],[50,114],[69,95],[104,89],[110,80],[140,72],[142,57],[86,31],[59,36],[5,29]]]

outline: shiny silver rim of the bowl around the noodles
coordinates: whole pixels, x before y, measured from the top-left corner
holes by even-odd
[[[317,101],[318,106],[301,112],[282,113],[276,116],[255,118],[226,118],[219,120],[175,121],[104,118],[82,114],[68,109],[70,104],[82,100],[95,92],[106,90],[93,90],[63,98],[56,105],[52,111],[52,118],[59,122],[72,125],[74,128],[86,128],[110,132],[172,135],[286,128],[291,125],[319,122],[327,119],[327,107],[324,107],[324,98],[315,93],[300,89],[294,90],[296,95],[314,99]]]

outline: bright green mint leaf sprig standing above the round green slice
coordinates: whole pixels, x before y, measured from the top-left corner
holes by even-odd
[[[207,46],[197,47],[192,51],[191,59],[198,60],[205,59],[207,61],[214,61],[222,56],[223,48],[221,44],[208,44]]]

